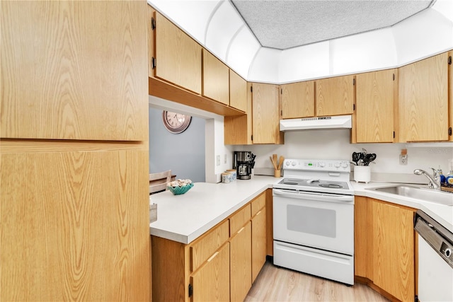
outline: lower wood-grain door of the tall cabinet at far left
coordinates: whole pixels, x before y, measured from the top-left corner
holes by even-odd
[[[147,158],[2,153],[0,300],[147,300]]]

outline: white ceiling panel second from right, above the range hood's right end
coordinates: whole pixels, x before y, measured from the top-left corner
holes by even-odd
[[[396,66],[396,47],[391,28],[373,30],[330,41],[330,75]]]

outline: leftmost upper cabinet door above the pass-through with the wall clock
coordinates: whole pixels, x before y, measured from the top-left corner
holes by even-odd
[[[202,47],[156,12],[156,78],[201,94]]]

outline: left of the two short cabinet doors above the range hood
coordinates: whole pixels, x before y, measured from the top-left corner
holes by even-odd
[[[314,81],[280,86],[282,119],[314,117]]]

